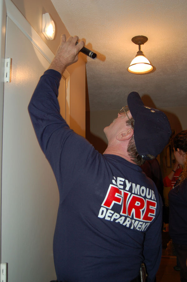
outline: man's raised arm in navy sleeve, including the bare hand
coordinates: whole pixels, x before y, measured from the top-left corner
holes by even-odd
[[[61,131],[61,135],[58,132],[62,128],[69,128],[60,115],[57,96],[62,73],[67,66],[78,60],[78,53],[84,46],[83,41],[76,45],[77,40],[77,36],[66,40],[65,35],[61,35],[55,58],[41,76],[28,106],[38,142],[47,158],[53,148],[53,154],[59,154],[63,139],[61,135],[65,134],[65,131]],[[61,141],[57,142],[58,138],[61,138]]]

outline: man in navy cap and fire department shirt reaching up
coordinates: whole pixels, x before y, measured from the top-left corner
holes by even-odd
[[[123,107],[104,129],[108,147],[103,155],[74,133],[60,116],[57,95],[61,74],[84,45],[77,40],[61,36],[28,107],[59,187],[53,244],[57,280],[139,281],[144,262],[151,282],[161,259],[162,202],[139,165],[162,151],[170,124],[132,92],[130,111]]]

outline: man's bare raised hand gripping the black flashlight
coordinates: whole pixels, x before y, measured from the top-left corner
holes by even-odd
[[[48,69],[54,69],[62,74],[67,66],[77,62],[78,53],[84,46],[83,41],[76,45],[77,40],[78,36],[70,36],[65,40],[65,34],[62,34],[55,58]]]

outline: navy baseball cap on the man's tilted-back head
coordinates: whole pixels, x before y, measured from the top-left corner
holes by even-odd
[[[165,113],[144,105],[137,92],[131,92],[127,104],[134,119],[134,141],[137,152],[143,159],[147,155],[157,157],[168,144],[171,127]]]

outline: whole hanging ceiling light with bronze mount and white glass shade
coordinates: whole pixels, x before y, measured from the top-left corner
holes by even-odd
[[[129,73],[150,73],[154,69],[149,60],[145,58],[143,52],[141,51],[141,45],[146,43],[147,40],[148,38],[143,35],[138,35],[132,38],[132,42],[139,46],[139,51],[137,52],[136,57],[130,63],[130,66],[127,68]]]

